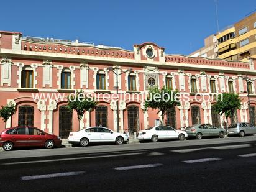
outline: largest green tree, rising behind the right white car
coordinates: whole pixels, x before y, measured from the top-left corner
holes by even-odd
[[[168,109],[180,105],[180,101],[178,101],[178,96],[178,90],[173,91],[170,88],[163,87],[162,89],[160,89],[158,87],[155,87],[149,89],[147,99],[145,99],[144,112],[147,111],[147,109],[149,108],[152,108],[153,110],[158,110],[157,114],[159,112],[162,112],[162,120],[164,120]]]

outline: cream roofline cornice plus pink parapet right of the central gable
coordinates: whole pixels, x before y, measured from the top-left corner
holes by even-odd
[[[139,65],[139,66],[158,66],[158,68],[175,68],[183,70],[201,70],[201,71],[225,71],[231,73],[256,73],[256,70],[250,70],[249,63],[228,62],[221,59],[207,59],[201,57],[186,57],[184,55],[165,55],[165,62],[156,62],[148,60],[135,60],[130,58],[98,57],[92,55],[76,55],[66,53],[51,52],[33,52],[0,49],[0,57],[9,58],[39,58],[42,60],[60,60],[69,62],[86,63],[107,63],[113,65]]]

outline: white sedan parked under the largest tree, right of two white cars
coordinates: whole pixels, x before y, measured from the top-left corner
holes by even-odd
[[[148,129],[138,132],[138,139],[141,140],[152,140],[152,142],[158,142],[158,139],[179,139],[185,140],[188,134],[182,130],[173,129],[170,126],[154,126]]]

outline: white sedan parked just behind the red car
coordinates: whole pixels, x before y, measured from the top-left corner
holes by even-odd
[[[91,142],[116,142],[124,144],[129,141],[127,134],[114,132],[106,127],[88,127],[78,132],[70,132],[68,142],[70,144],[80,144],[82,147]]]

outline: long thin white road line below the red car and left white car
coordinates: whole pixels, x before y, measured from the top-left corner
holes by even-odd
[[[61,162],[61,161],[80,160],[80,159],[88,159],[88,158],[120,157],[120,156],[141,155],[141,154],[143,154],[143,153],[126,153],[126,154],[117,154],[117,155],[99,155],[99,156],[92,156],[92,157],[60,158],[60,159],[37,160],[37,161],[27,161],[27,162],[2,163],[1,165],[19,165],[19,164],[27,164],[27,163]]]

